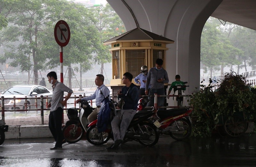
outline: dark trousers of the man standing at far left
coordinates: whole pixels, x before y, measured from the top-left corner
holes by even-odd
[[[55,139],[55,147],[62,147],[64,135],[62,133],[62,113],[63,109],[58,107],[57,110],[51,111],[49,115],[49,129]]]

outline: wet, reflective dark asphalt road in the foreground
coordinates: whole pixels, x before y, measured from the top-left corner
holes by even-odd
[[[161,136],[153,147],[138,142],[107,150],[112,141],[94,146],[81,140],[50,150],[52,138],[5,140],[0,146],[0,166],[255,166],[256,135],[239,138],[192,138],[184,141]]]

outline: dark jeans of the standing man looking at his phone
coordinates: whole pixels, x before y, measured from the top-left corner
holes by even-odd
[[[157,93],[157,95],[164,95],[164,88],[160,88],[160,89],[152,89],[150,88],[149,90],[149,96],[148,96],[148,107],[154,106],[154,97],[150,97],[150,95],[154,95],[155,93]],[[164,97],[157,97],[157,103],[158,106],[164,106]],[[163,109],[159,109],[159,110],[163,110]]]

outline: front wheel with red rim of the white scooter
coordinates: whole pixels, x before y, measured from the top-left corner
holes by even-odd
[[[77,122],[67,122],[62,129],[64,138],[68,143],[76,143],[81,140],[84,135],[84,129],[82,126],[77,126]]]

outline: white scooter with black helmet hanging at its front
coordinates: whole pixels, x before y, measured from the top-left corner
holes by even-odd
[[[87,101],[79,103],[79,111],[76,108],[69,108],[67,111],[68,121],[62,128],[64,138],[68,143],[76,143],[81,140],[84,133],[87,131],[89,121],[87,117],[92,113],[93,108]],[[78,115],[79,113],[79,115]]]

